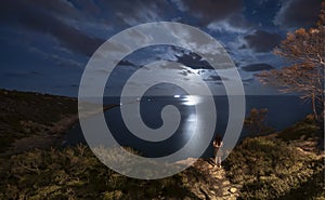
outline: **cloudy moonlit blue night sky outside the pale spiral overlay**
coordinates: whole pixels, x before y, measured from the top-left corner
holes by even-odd
[[[246,94],[274,94],[255,74],[280,68],[272,54],[288,31],[315,24],[321,0],[13,0],[0,8],[0,88],[77,96],[92,53],[112,36],[150,22],[179,22],[206,31],[226,49],[238,67]],[[157,59],[190,64],[211,85],[220,77],[195,54],[174,46],[153,46],[127,56],[119,78]],[[231,80],[231,77],[227,77]],[[190,80],[191,81],[191,80]]]

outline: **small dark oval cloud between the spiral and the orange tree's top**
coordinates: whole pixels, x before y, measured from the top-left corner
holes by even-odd
[[[282,37],[278,34],[257,30],[251,35],[245,36],[244,39],[246,40],[248,48],[252,49],[255,52],[270,52],[280,43]]]

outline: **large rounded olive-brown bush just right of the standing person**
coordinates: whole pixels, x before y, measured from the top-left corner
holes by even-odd
[[[302,156],[281,139],[247,138],[224,164],[230,179],[243,184],[243,199],[313,199],[323,191],[323,160]]]

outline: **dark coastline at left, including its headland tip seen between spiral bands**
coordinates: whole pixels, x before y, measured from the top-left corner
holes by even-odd
[[[0,89],[0,157],[58,146],[78,123],[77,98]],[[103,111],[117,104],[103,106]]]

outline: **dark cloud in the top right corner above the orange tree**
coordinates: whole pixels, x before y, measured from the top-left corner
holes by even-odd
[[[274,24],[284,28],[310,27],[317,21],[321,2],[321,0],[283,1]]]

